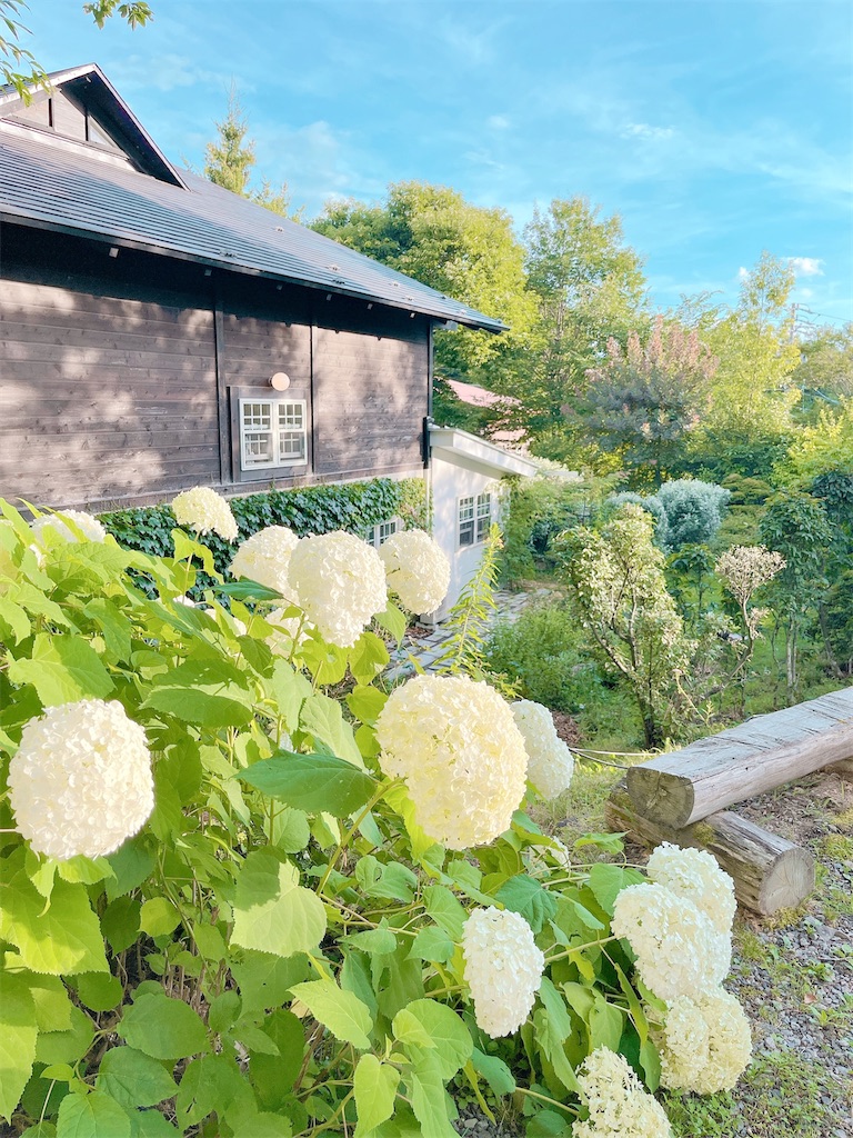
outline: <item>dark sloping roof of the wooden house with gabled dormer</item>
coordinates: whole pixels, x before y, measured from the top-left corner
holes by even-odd
[[[94,64],[50,76],[96,106],[129,159],[25,121],[0,89],[0,220],[304,284],[499,332],[506,325],[411,277],[177,171]],[[17,114],[16,114],[17,112]]]

